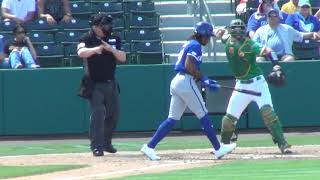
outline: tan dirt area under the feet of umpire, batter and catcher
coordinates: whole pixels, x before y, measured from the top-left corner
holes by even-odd
[[[35,175],[16,179],[106,179],[127,175],[165,172],[208,165],[216,165],[233,160],[269,159],[320,159],[320,146],[294,146],[293,154],[282,155],[276,147],[237,148],[222,160],[216,160],[212,149],[186,149],[159,151],[161,161],[149,161],[140,152],[119,152],[93,157],[91,153],[70,153],[50,155],[23,155],[0,157],[1,165],[44,165],[44,164],[84,164],[89,167]]]

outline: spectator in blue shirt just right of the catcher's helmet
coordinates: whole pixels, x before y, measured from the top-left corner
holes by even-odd
[[[260,2],[257,12],[253,13],[248,21],[247,33],[250,38],[253,38],[254,33],[259,27],[267,24],[266,14],[268,11],[270,11],[270,9],[278,8],[278,5],[274,3],[273,0],[262,0]]]

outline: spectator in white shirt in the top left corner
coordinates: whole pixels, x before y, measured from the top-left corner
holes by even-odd
[[[2,17],[17,23],[26,23],[34,19],[34,0],[3,0],[1,4]]]

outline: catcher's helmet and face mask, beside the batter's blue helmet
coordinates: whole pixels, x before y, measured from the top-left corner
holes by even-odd
[[[228,31],[233,38],[239,41],[246,37],[246,25],[240,19],[232,20],[228,27]]]

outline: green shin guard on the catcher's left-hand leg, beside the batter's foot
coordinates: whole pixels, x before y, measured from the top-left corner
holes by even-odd
[[[230,114],[226,114],[222,118],[221,127],[221,142],[224,144],[230,144],[231,137],[236,129],[238,119]]]

